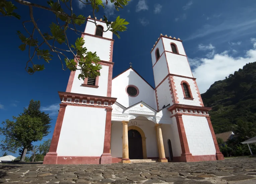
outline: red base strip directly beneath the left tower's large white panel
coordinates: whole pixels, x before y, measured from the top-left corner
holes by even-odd
[[[58,156],[56,164],[99,164],[100,157]]]

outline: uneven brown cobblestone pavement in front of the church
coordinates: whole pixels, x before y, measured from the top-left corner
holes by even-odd
[[[256,184],[256,158],[108,165],[0,164],[0,183]]]

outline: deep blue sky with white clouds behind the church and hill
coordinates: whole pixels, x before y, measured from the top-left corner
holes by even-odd
[[[32,1],[38,2],[38,1]],[[92,16],[90,6],[73,0],[75,14]],[[41,2],[40,2],[41,3]],[[65,91],[70,72],[61,69],[55,58],[46,69],[29,75],[24,70],[28,52],[20,51],[21,44],[16,30],[25,32],[22,21],[29,20],[28,7],[16,4],[21,20],[1,17],[1,96],[0,120],[11,119],[28,106],[31,99],[41,101],[41,110],[49,113],[52,120],[51,138],[58,115],[60,99],[58,91]],[[42,5],[47,6],[44,1]],[[185,52],[201,93],[212,83],[225,79],[230,73],[256,60],[256,1],[150,1],[132,0],[128,6],[116,12],[111,3],[96,13],[97,19],[107,15],[114,20],[120,15],[130,24],[121,39],[114,36],[113,77],[133,63],[152,86],[154,85],[150,51],[162,33],[183,40]],[[55,21],[54,14],[34,8],[34,18],[42,31],[49,31]],[[79,30],[84,30],[83,24]],[[69,35],[70,42],[78,36]],[[44,64],[44,63],[43,63]],[[1,153],[0,153],[1,155]],[[14,156],[17,156],[16,154]]]

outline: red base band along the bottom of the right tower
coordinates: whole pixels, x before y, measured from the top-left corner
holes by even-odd
[[[173,157],[173,162],[199,162],[217,160],[216,155],[195,155]]]

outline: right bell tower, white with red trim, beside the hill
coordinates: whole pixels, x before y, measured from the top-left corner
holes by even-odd
[[[157,109],[170,105],[169,134],[179,137],[171,143],[173,150],[180,150],[175,161],[223,160],[208,114],[211,108],[203,105],[182,40],[161,34],[151,57]]]

